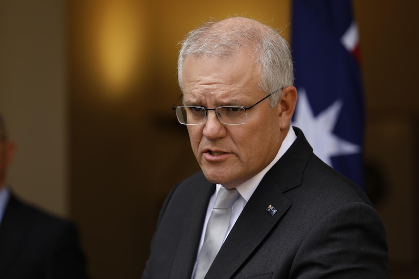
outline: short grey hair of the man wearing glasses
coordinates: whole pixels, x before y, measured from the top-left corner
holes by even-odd
[[[261,73],[258,87],[270,94],[294,83],[294,66],[288,43],[272,27],[261,22],[243,18],[232,18],[231,25],[223,21],[208,21],[191,31],[181,43],[177,61],[177,78],[183,92],[182,70],[186,57],[233,58],[239,49],[251,49]],[[279,94],[270,97],[275,107]]]

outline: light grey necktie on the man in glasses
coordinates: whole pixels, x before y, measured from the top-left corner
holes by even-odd
[[[199,252],[194,279],[203,279],[208,269],[210,269],[211,263],[226,237],[231,218],[231,206],[239,196],[240,194],[235,188],[220,188],[208,220],[204,244]]]

